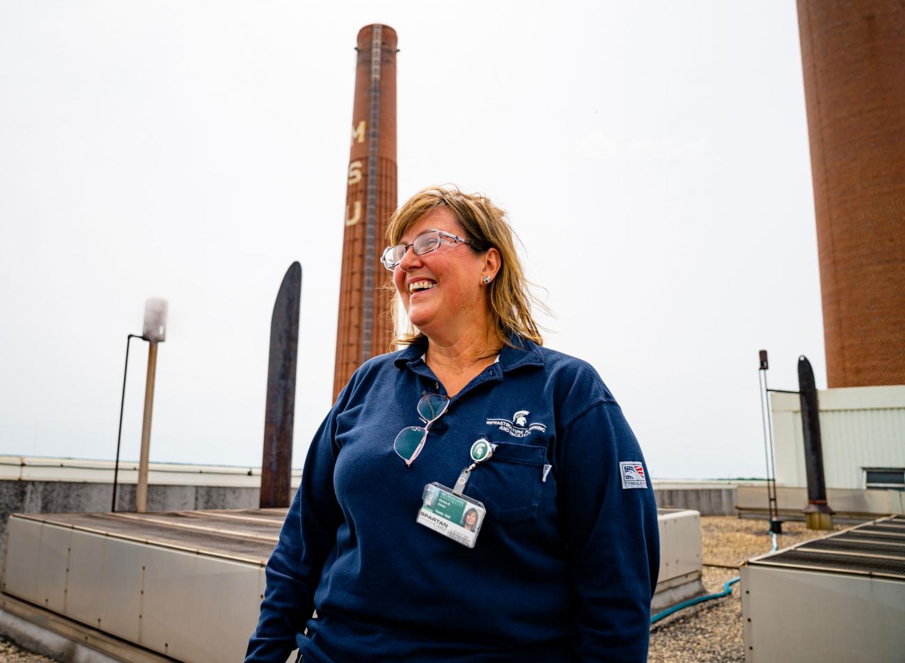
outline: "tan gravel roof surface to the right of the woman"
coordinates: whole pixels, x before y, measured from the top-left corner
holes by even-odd
[[[701,516],[704,569],[701,580],[709,593],[722,592],[723,583],[738,575],[745,560],[768,553],[773,545],[766,520],[735,516]],[[835,526],[840,530],[846,526]],[[814,532],[804,523],[783,523],[779,548],[799,544],[829,532]],[[729,568],[723,568],[729,567]],[[650,663],[744,663],[741,597],[738,582],[731,596],[676,612],[653,625]]]

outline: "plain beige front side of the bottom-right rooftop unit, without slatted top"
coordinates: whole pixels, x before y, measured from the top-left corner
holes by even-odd
[[[741,597],[747,663],[905,659],[905,582],[744,565]]]

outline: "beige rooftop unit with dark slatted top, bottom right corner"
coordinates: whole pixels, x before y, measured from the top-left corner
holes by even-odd
[[[754,557],[741,591],[748,663],[905,661],[905,517]]]

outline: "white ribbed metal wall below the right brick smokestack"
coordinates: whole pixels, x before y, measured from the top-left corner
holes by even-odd
[[[848,387],[817,393],[827,488],[863,488],[864,468],[905,468],[905,386]],[[801,406],[772,393],[776,480],[805,486]]]

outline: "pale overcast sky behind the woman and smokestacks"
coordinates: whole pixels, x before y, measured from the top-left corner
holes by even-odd
[[[339,6],[341,5],[341,7]],[[547,345],[654,478],[764,475],[757,351],[825,387],[795,5],[0,1],[0,454],[111,459],[169,301],[152,461],[260,466],[303,273],[294,465],[331,405],[356,34],[399,35],[399,200],[509,210]],[[123,458],[137,459],[133,343]]]

